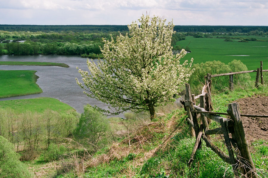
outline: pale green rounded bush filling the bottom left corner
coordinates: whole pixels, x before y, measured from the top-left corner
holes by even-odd
[[[32,177],[27,167],[19,161],[19,154],[13,151],[13,146],[0,136],[0,177],[28,178]]]

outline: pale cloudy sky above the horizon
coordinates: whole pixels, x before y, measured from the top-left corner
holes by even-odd
[[[0,24],[127,25],[146,13],[175,25],[268,26],[268,0],[0,0]]]

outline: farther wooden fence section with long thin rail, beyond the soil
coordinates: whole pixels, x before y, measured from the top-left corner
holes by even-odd
[[[205,78],[205,81],[208,81],[209,88],[211,89],[211,78],[212,77],[219,77],[219,76],[229,75],[229,90],[233,90],[233,75],[234,74],[244,74],[244,73],[256,72],[255,87],[258,87],[259,78],[261,78],[261,84],[263,85],[263,72],[268,72],[268,70],[263,70],[262,66],[263,65],[262,65],[262,61],[261,61],[261,66],[260,66],[260,68],[257,68],[257,70],[230,72],[230,73],[214,74],[214,75],[207,74],[206,76],[204,76],[204,78]]]

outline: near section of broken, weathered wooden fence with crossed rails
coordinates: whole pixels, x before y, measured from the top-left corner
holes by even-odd
[[[181,103],[184,105],[184,109],[187,111],[188,118],[186,120],[189,124],[189,132],[192,136],[196,137],[193,152],[190,160],[188,161],[189,166],[191,166],[191,163],[195,158],[196,151],[201,146],[201,139],[203,139],[207,147],[210,147],[211,150],[213,150],[223,161],[232,165],[236,178],[257,178],[258,175],[256,174],[256,169],[250,155],[241,116],[268,116],[241,115],[239,112],[238,103],[229,104],[227,113],[211,112],[213,108],[211,105],[211,93],[209,85],[210,82],[206,80],[206,85],[203,87],[202,94],[194,96],[191,95],[190,85],[188,83],[185,84],[185,101],[181,101]],[[200,99],[200,104],[197,106],[195,100],[198,98]],[[197,113],[200,113],[200,122],[198,121]],[[219,115],[229,115],[230,119],[221,117]],[[210,129],[209,124],[211,120],[219,123],[221,127]],[[223,134],[228,155],[211,142],[210,135],[212,134]],[[231,134],[231,138],[229,134]],[[236,157],[234,156],[234,153],[236,153]]]

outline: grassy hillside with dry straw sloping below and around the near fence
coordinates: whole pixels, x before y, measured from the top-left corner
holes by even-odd
[[[267,88],[264,86],[258,89],[244,88],[227,94],[215,94],[212,97],[214,111],[226,112],[227,105],[237,101],[241,106],[241,113],[244,114],[249,112],[245,106],[254,101],[256,107],[253,109],[256,113],[267,115],[267,111],[264,112],[264,109],[258,107],[260,105],[265,107],[266,95]],[[126,131],[123,139],[113,142],[109,147],[93,155],[78,156],[77,153],[77,157],[58,161],[54,167],[57,169],[56,177],[234,177],[232,166],[206,147],[205,142],[202,142],[196,158],[191,166],[188,166],[195,139],[188,134],[186,117],[183,108],[169,105],[158,108],[158,117],[154,122],[141,123],[139,120],[128,125],[126,121],[121,121]],[[256,172],[260,177],[267,178],[268,133],[259,127],[255,130],[247,129],[253,124],[248,123],[249,119],[243,117],[242,122],[245,131],[248,130],[246,137]],[[255,121],[253,119],[255,123],[262,122],[262,125],[268,126],[267,120]],[[218,124],[212,122],[210,127],[216,128]],[[217,147],[227,153],[222,136],[215,135],[211,139]],[[53,166],[47,167],[51,169]],[[44,170],[46,166],[40,169]],[[51,175],[52,172],[53,170],[50,170]],[[36,177],[44,176],[37,175],[36,173]]]

